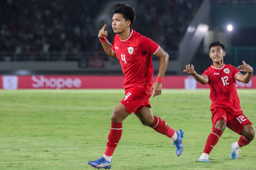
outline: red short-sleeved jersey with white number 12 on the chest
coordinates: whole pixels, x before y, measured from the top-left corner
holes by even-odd
[[[209,79],[210,99],[212,105],[210,110],[214,107],[230,108],[233,112],[242,111],[240,101],[236,91],[236,75],[240,71],[228,64],[223,64],[222,68],[216,68],[211,65],[203,74]]]

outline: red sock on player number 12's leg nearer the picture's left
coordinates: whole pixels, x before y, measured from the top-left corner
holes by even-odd
[[[210,135],[207,138],[207,141],[204,147],[204,153],[210,154],[213,147],[219,141],[221,135],[222,135],[222,131],[220,131],[219,129],[213,129],[213,131],[210,133]]]

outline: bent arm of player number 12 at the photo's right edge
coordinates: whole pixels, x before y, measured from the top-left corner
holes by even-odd
[[[242,83],[250,82],[250,79],[252,78],[252,72],[253,72],[252,67],[243,61],[243,65],[238,66],[238,69],[239,71],[246,72],[246,74],[245,75],[241,73],[236,74],[236,80]]]

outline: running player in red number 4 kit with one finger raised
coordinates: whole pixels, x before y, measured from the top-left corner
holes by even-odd
[[[150,109],[150,96],[153,94],[154,97],[162,93],[162,79],[169,56],[157,43],[131,28],[135,18],[134,8],[124,3],[116,4],[113,7],[112,17],[112,29],[116,33],[113,44],[106,39],[108,36],[107,31],[104,31],[106,25],[98,34],[106,54],[112,58],[117,57],[122,66],[125,96],[112,112],[110,133],[103,156],[98,160],[88,161],[88,164],[95,168],[111,167],[112,155],[122,135],[122,122],[131,113],[134,113],[143,125],[152,127],[172,139],[178,156],[183,150],[184,132],[170,128],[163,119],[153,115]],[[160,59],[155,83],[152,79],[151,55]]]

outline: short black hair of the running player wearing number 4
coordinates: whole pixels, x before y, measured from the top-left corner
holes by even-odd
[[[114,14],[122,14],[125,21],[131,21],[130,27],[132,26],[132,23],[136,19],[136,12],[134,8],[124,3],[118,3],[113,6],[112,16]]]

